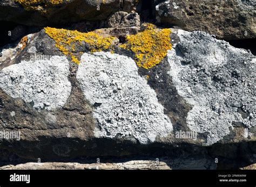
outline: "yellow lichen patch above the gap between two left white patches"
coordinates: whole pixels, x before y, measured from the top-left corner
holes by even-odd
[[[111,48],[112,41],[114,39],[114,37],[102,37],[99,34],[99,31],[83,33],[51,27],[45,27],[44,30],[49,37],[55,40],[55,46],[63,54],[70,56],[71,60],[77,64],[80,62],[73,54],[73,52],[75,52],[76,45],[82,44],[84,41],[86,44],[89,44],[90,51],[93,53]]]

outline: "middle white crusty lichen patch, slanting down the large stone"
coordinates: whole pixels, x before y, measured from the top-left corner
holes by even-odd
[[[130,57],[110,52],[85,53],[77,80],[85,98],[96,107],[96,137],[133,136],[140,143],[150,143],[172,132],[156,92],[138,75],[136,62]]]

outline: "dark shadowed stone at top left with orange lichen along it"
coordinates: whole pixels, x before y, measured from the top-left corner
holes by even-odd
[[[135,10],[136,1],[0,1],[0,20],[29,26],[70,24],[80,20],[105,20],[120,9]]]

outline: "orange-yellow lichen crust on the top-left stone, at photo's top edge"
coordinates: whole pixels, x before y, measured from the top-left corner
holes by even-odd
[[[63,1],[63,0],[15,0],[15,2],[18,2],[21,4],[25,10],[35,10],[39,11],[41,13],[47,13],[49,9],[49,6],[56,6],[63,3],[68,3],[69,1]],[[50,9],[49,9],[50,10]]]

